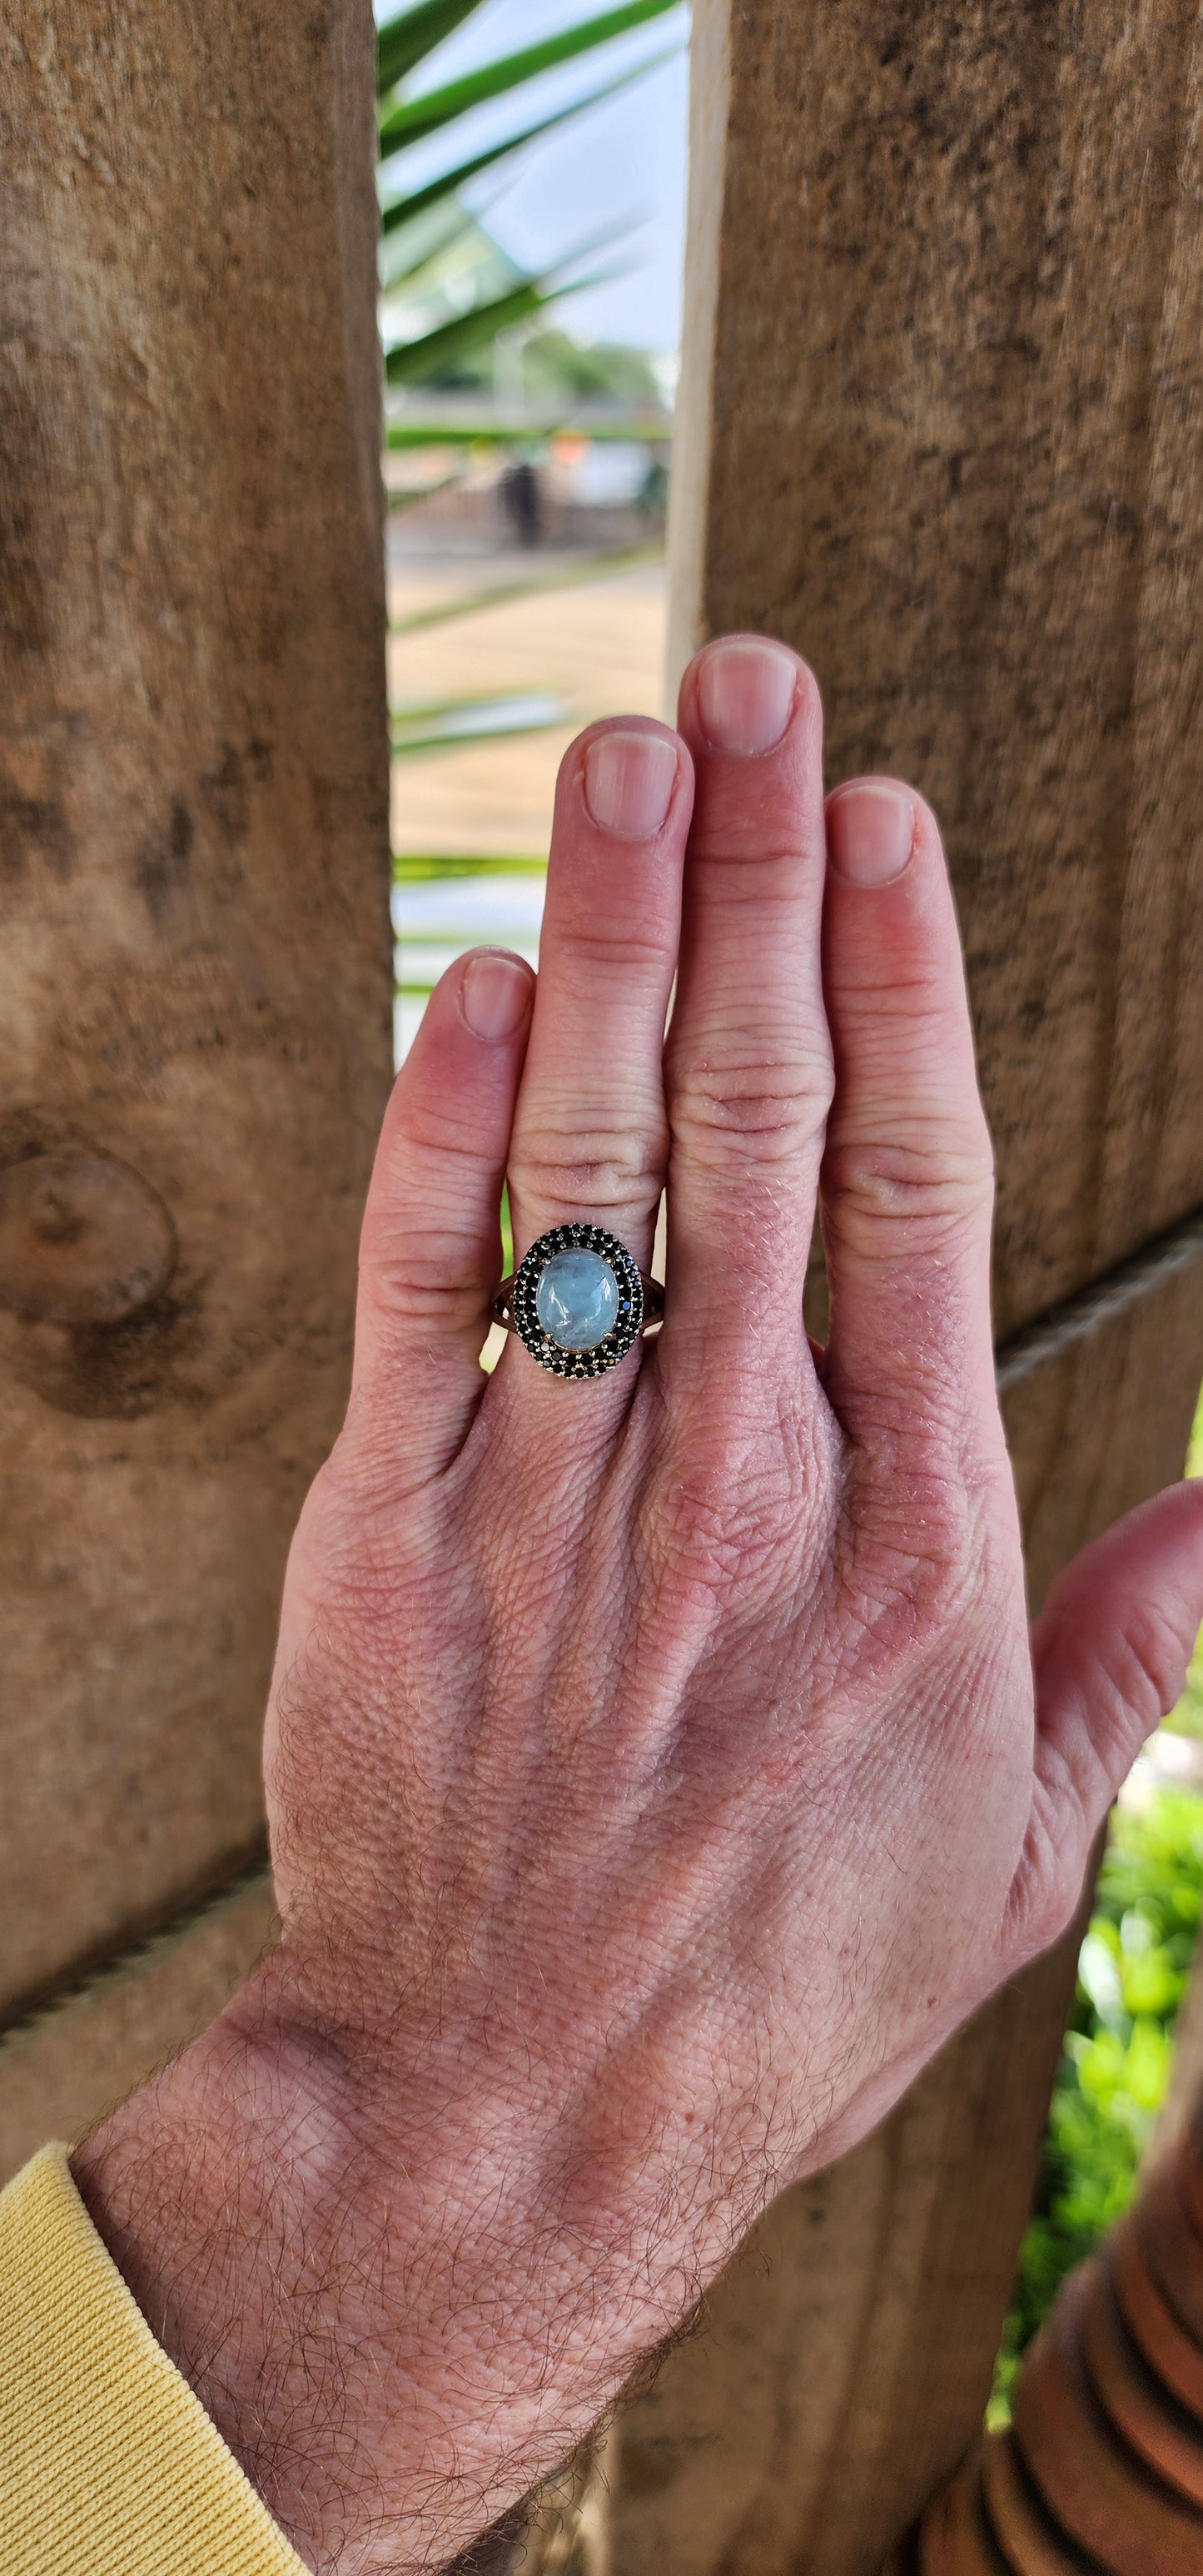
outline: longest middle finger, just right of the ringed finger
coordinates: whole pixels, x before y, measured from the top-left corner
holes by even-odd
[[[763,1368],[768,1332],[806,1355],[801,1280],[832,1087],[822,703],[783,644],[724,636],[685,672],[677,721],[698,788],[667,1043],[665,1332],[708,1355],[729,1342]]]

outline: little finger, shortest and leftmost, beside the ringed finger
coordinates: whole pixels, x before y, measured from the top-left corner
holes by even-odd
[[[500,1200],[531,1025],[523,958],[477,948],[435,984],[397,1074],[363,1211],[353,1414],[389,1473],[456,1455],[484,1391]]]

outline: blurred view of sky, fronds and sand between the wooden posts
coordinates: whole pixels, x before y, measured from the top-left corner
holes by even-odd
[[[556,765],[659,714],[688,15],[379,21],[397,1054],[477,940],[538,953]]]

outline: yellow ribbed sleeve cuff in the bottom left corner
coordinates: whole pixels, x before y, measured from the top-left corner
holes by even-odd
[[[46,2146],[0,2192],[3,2576],[304,2576]]]

